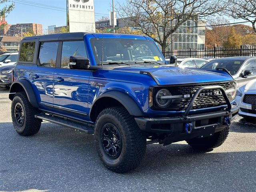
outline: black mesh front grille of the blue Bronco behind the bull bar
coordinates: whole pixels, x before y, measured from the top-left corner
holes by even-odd
[[[190,103],[190,101],[192,99],[192,94],[194,94],[196,92],[196,90],[198,90],[200,87],[202,87],[202,86],[222,86],[224,88],[224,90],[227,90],[228,88],[230,88],[232,86],[233,82],[234,81],[170,86],[170,87],[168,87],[168,90],[170,91],[170,93],[173,96],[174,95],[182,95],[183,98],[173,99],[170,106],[168,106],[168,108],[165,108],[165,109],[157,108],[156,105],[155,105],[155,107],[158,110],[183,111],[183,110],[186,110],[188,104]],[[210,93],[210,92],[216,92],[217,94],[215,94],[215,95],[213,94],[213,95],[209,95],[209,96],[206,96],[206,94],[205,94],[204,96],[203,95],[198,96],[191,109],[215,107],[215,106],[220,106],[220,105],[226,104],[224,96],[218,89],[204,90],[201,93]],[[187,94],[189,94],[190,96],[188,98],[184,98],[184,95],[187,95]],[[232,100],[232,98],[229,97],[229,100]]]

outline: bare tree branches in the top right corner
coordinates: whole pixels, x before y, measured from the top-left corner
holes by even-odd
[[[252,24],[256,33],[256,0],[230,0],[226,14],[234,19],[244,19]]]

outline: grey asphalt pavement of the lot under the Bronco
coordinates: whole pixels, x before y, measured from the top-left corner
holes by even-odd
[[[212,151],[151,144],[136,170],[117,174],[100,162],[93,135],[43,122],[38,134],[19,136],[10,105],[0,88],[0,192],[256,191],[256,124],[239,116]]]

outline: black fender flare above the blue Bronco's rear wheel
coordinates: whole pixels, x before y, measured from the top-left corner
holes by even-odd
[[[13,100],[14,94],[16,92],[20,92],[20,86],[22,86],[22,88],[26,92],[26,94],[28,96],[28,101],[30,102],[30,104],[35,108],[39,108],[38,102],[36,100],[36,96],[34,94],[34,90],[31,86],[30,82],[26,79],[20,79],[20,80],[14,81],[12,83],[12,85],[10,87],[9,99]]]

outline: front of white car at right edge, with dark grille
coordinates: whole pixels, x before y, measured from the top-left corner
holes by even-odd
[[[240,107],[238,115],[256,118],[256,79],[237,90],[235,103]]]

